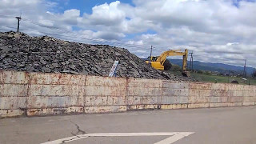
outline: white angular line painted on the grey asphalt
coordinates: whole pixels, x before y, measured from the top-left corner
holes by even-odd
[[[97,134],[80,134],[73,137],[62,138],[51,142],[44,142],[42,144],[61,144],[76,141],[88,137],[140,137],[140,136],[171,136],[160,142],[154,144],[171,144],[179,139],[185,138],[194,132],[172,132],[172,133],[97,133]]]

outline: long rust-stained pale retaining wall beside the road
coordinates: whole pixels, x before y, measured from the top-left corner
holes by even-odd
[[[252,106],[256,86],[0,71],[0,118]]]

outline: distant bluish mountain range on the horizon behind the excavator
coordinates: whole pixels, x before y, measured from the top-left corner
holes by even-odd
[[[171,63],[182,66],[182,59],[169,59]],[[190,62],[187,62],[187,66],[190,66]],[[229,70],[234,71],[236,74],[243,73],[242,66],[232,66],[226,65],[223,63],[210,63],[210,62],[198,62],[194,61],[194,70],[209,70],[209,71],[218,71],[220,73],[228,73]],[[254,68],[247,67],[247,74],[252,74]]]

